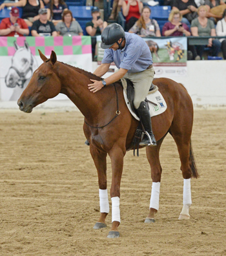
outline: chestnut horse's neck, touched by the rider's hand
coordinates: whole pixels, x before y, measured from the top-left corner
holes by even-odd
[[[85,71],[79,72],[75,68],[59,69],[61,70],[61,93],[66,94],[68,98],[77,106],[81,113],[90,120],[96,122],[101,112],[109,101],[110,96],[99,92],[90,92],[88,90],[88,83],[92,78],[92,74]],[[65,72],[65,70],[67,70]]]

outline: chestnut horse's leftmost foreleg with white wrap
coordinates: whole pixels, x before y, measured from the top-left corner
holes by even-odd
[[[100,217],[98,222],[96,222],[94,229],[106,228],[107,224],[105,222],[106,217],[109,213],[109,202],[108,202],[108,192],[107,192],[107,153],[98,151],[95,147],[90,145],[90,153],[98,170],[98,182],[99,182],[99,207],[100,207]]]

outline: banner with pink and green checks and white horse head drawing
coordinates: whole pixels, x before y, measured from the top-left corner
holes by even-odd
[[[2,101],[17,101],[21,96],[34,70],[43,63],[38,49],[46,56],[54,50],[59,61],[92,72],[90,36],[0,37]],[[57,99],[67,97],[59,94]]]

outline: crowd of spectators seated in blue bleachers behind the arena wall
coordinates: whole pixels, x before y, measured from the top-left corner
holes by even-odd
[[[119,23],[141,37],[209,36],[208,45],[188,45],[188,59],[222,51],[226,59],[225,0],[0,0],[0,36],[96,36]]]

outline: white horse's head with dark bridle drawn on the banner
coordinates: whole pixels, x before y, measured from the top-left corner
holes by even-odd
[[[8,70],[5,77],[5,83],[7,87],[19,87],[23,88],[23,84],[26,80],[30,79],[32,76],[32,65],[33,58],[30,51],[28,43],[25,41],[24,47],[19,47],[16,42],[14,42],[15,54],[12,57],[12,65]]]

